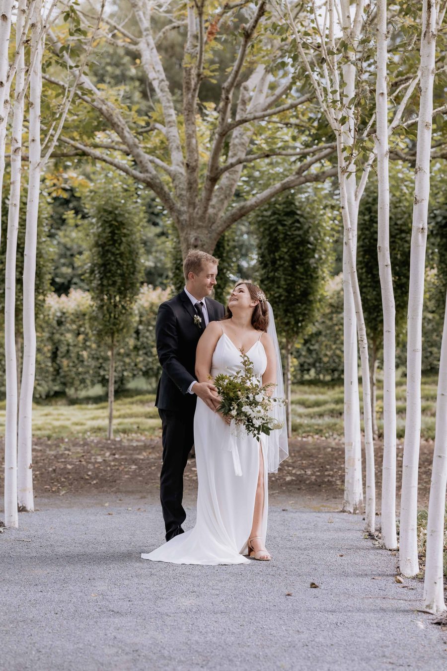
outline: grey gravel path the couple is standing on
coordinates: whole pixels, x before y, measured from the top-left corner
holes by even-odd
[[[164,540],[156,501],[38,507],[0,535],[2,671],[447,668],[422,584],[395,582],[361,517],[276,500],[273,561],[176,566],[139,558]]]

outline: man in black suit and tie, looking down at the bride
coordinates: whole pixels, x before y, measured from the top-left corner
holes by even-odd
[[[219,402],[212,382],[197,382],[196,347],[210,321],[224,316],[221,303],[209,298],[216,285],[218,259],[190,250],[183,264],[186,287],[159,306],[155,323],[157,354],[162,366],[155,406],[162,418],[163,464],[160,500],[166,540],[183,533],[183,472],[194,443],[196,397],[214,410]]]

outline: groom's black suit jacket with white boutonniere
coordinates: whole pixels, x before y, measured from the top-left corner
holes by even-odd
[[[224,316],[222,303],[208,297],[204,301],[209,321]],[[161,410],[194,411],[197,397],[188,394],[188,387],[196,380],[196,347],[203,333],[194,323],[194,315],[196,311],[185,291],[159,306],[155,340],[163,370],[155,406]]]

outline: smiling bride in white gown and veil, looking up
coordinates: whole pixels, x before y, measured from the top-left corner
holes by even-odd
[[[241,351],[253,362],[259,384],[275,384],[283,396],[279,346],[271,306],[250,282],[233,289],[222,321],[211,321],[196,352],[196,377],[207,382],[220,372],[242,368]],[[194,415],[194,446],[198,477],[196,525],[174,536],[143,559],[174,564],[247,564],[249,557],[269,560],[267,472],[277,472],[288,456],[283,406],[272,410],[282,429],[255,437],[234,435],[227,418],[200,398]]]

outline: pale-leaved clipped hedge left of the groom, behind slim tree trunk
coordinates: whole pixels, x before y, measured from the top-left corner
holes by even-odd
[[[160,368],[155,347],[155,319],[168,291],[144,285],[129,315],[130,333],[117,348],[115,389],[145,378],[155,389]],[[109,358],[94,328],[90,294],[71,290],[48,295],[38,325],[35,398],[68,395],[78,398],[97,384],[107,386]],[[0,348],[4,346],[3,329]],[[0,358],[0,392],[5,393],[5,360]]]

